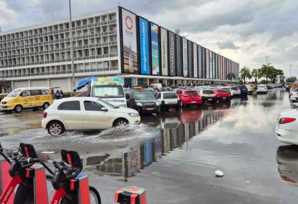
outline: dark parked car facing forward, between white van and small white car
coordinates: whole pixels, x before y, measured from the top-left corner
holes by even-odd
[[[128,107],[138,112],[159,112],[160,103],[152,93],[134,93],[128,102]]]

